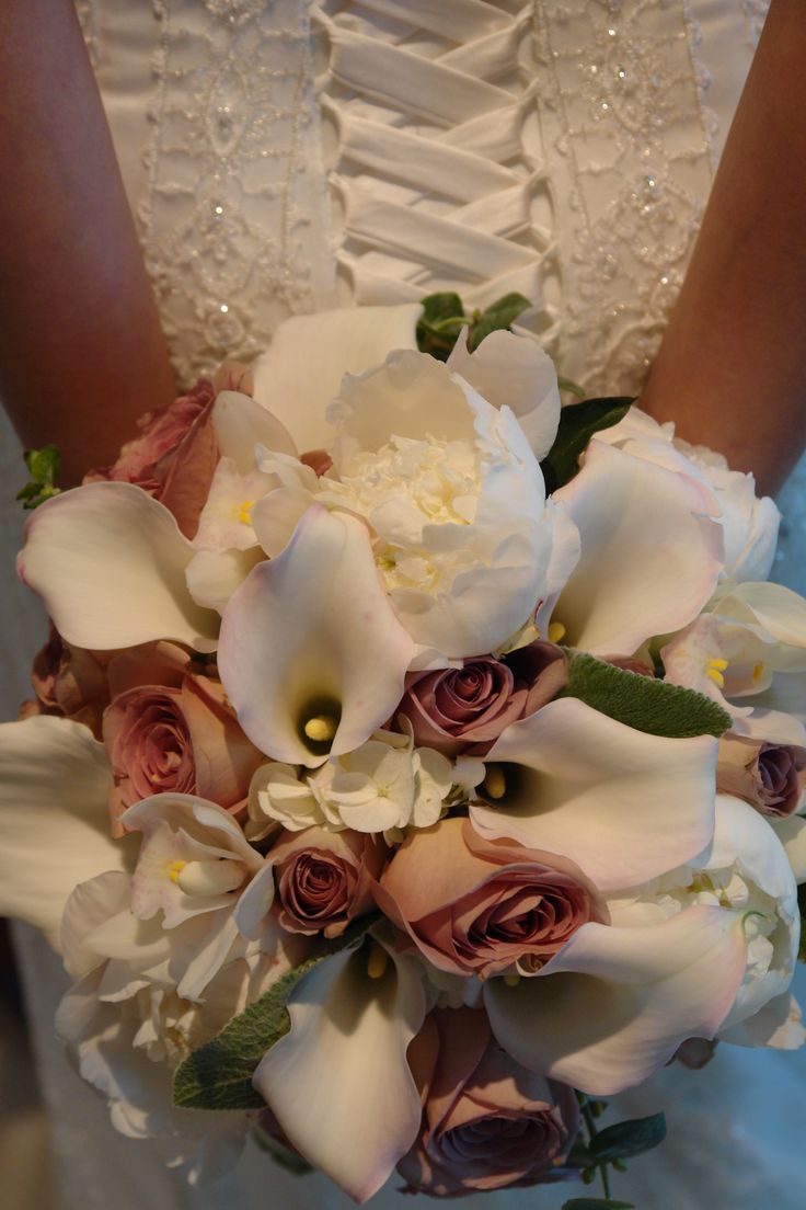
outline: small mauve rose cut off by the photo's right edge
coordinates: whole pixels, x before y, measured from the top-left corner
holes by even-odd
[[[806,790],[806,749],[738,736],[720,739],[717,790],[744,799],[765,816],[790,816]]]

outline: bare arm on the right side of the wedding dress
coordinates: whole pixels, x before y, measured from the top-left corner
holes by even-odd
[[[772,0],[642,397],[775,490],[806,440],[806,5]]]

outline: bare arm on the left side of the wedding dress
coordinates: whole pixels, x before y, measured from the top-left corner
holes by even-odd
[[[0,4],[0,399],[64,478],[174,393],[73,0]]]

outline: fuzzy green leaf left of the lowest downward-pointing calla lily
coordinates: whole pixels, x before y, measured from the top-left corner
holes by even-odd
[[[174,1105],[181,1110],[260,1110],[266,1102],[253,1088],[253,1073],[291,1025],[285,1007],[300,979],[319,962],[355,945],[377,921],[365,916],[332,941],[278,979],[268,991],[224,1026],[204,1045],[192,1050],[174,1076]]]

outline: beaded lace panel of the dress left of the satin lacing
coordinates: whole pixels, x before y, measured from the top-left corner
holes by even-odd
[[[139,218],[179,380],[248,361],[332,301],[303,0],[153,0],[160,47]]]

